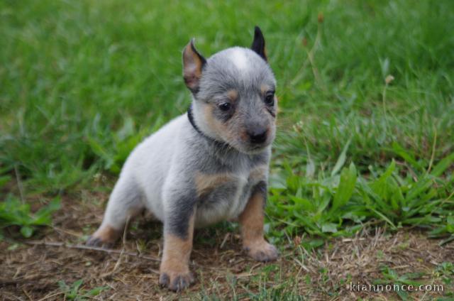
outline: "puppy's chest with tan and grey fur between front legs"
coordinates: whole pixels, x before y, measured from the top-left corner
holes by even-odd
[[[267,166],[238,173],[197,173],[197,224],[211,224],[223,219],[234,219],[260,181],[267,178]]]

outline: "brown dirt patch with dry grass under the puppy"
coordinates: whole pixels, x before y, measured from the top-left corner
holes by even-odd
[[[280,246],[277,262],[265,264],[244,255],[238,231],[228,229],[229,224],[196,231],[192,252],[196,285],[180,294],[169,292],[157,285],[160,224],[142,217],[131,223],[126,240],[114,246],[114,251],[84,249],[84,239],[101,221],[104,202],[104,193],[65,197],[54,226],[40,231],[43,236],[33,245],[24,243],[11,249],[11,241],[17,237],[1,242],[1,299],[63,300],[58,281],[70,285],[79,279],[84,280],[82,291],[106,288],[94,297],[99,300],[397,297],[396,292],[350,290],[350,282],[443,285],[443,292],[409,292],[409,297],[418,300],[453,292],[448,275],[439,268],[443,262],[452,262],[454,246],[439,246],[439,241],[427,239],[419,231],[363,231],[353,239],[329,241],[316,251],[301,248],[301,239],[295,237]]]

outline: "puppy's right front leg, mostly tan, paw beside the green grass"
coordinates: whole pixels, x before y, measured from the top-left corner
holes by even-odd
[[[266,197],[267,185],[260,182],[239,217],[243,248],[256,261],[274,261],[277,258],[276,247],[263,237]]]

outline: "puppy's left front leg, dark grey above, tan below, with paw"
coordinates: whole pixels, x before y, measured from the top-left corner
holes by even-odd
[[[194,236],[195,207],[175,207],[166,214],[164,222],[164,250],[160,266],[159,284],[179,291],[194,283],[189,271],[189,257]]]

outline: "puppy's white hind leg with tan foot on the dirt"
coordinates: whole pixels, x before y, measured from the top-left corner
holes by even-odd
[[[114,243],[128,219],[143,208],[142,193],[131,178],[120,177],[111,193],[101,226],[89,237],[87,245],[101,246]]]

